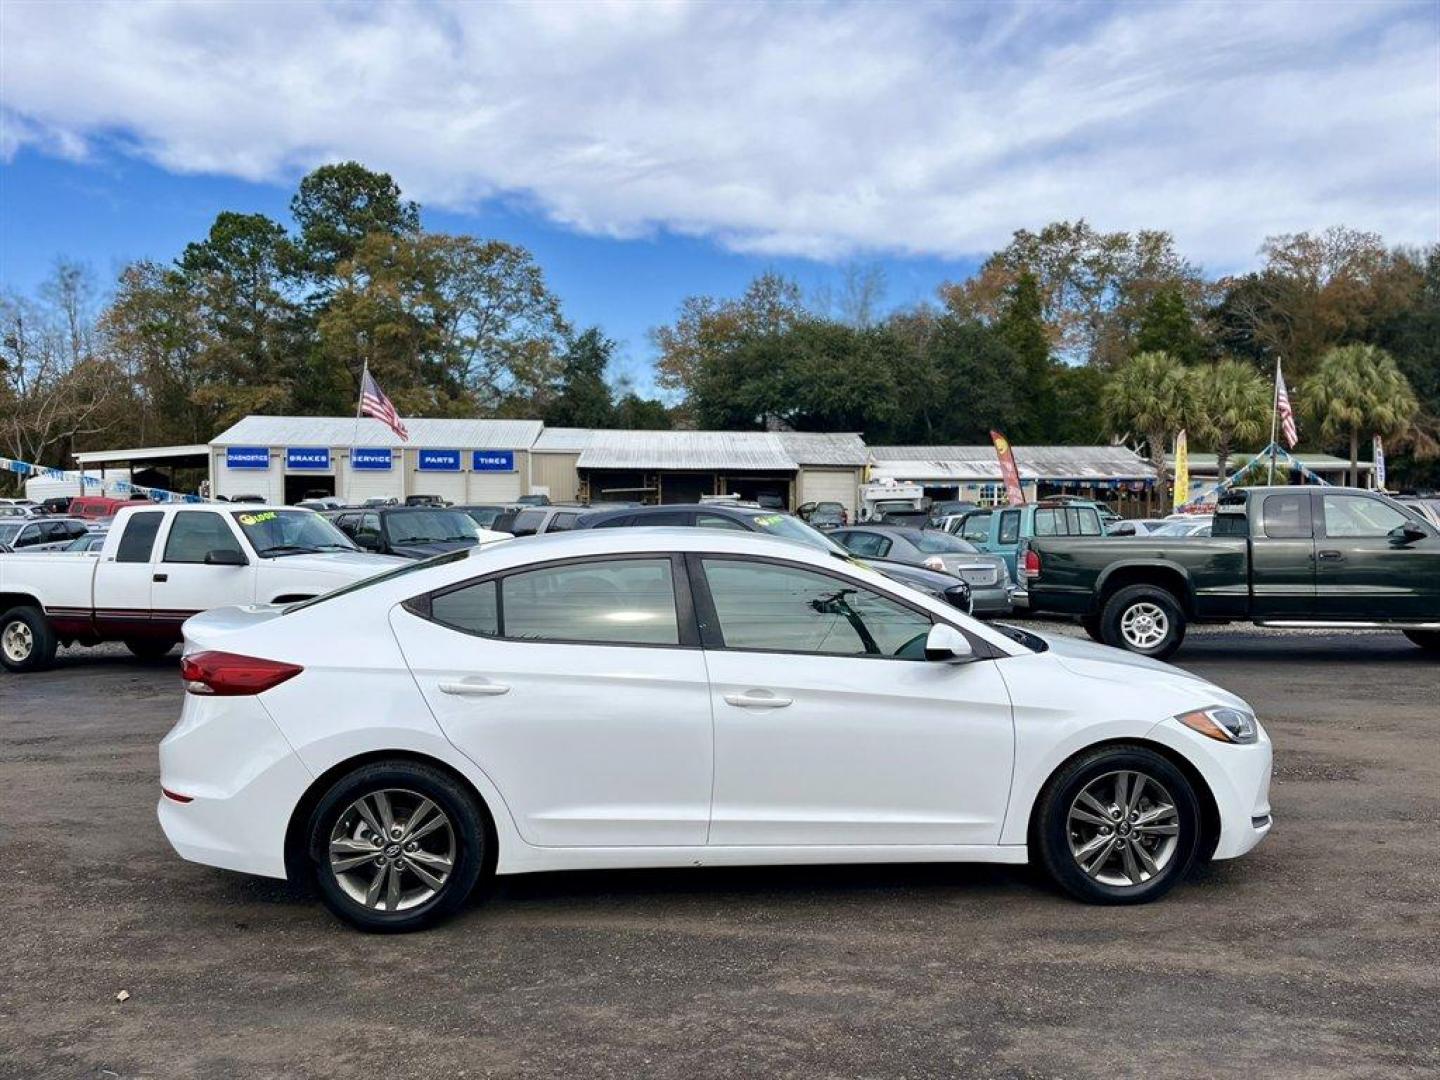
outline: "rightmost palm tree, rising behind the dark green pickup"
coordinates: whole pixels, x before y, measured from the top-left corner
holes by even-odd
[[[1416,392],[1394,357],[1375,346],[1336,346],[1300,387],[1300,405],[1331,441],[1349,436],[1351,484],[1359,487],[1359,435],[1392,438],[1420,412]]]

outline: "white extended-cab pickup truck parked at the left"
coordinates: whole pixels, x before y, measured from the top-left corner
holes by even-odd
[[[0,664],[42,671],[58,645],[102,641],[158,658],[196,612],[310,599],[409,564],[360,552],[310,510],[125,507],[98,559],[0,554]]]

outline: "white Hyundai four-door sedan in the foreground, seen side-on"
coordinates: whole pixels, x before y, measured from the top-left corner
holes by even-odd
[[[184,632],[170,842],[372,930],[592,867],[1037,861],[1136,903],[1270,828],[1234,694],[749,533],[505,541]]]

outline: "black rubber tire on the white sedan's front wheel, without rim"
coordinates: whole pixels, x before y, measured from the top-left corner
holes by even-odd
[[[1174,818],[1166,818],[1166,822],[1175,821],[1175,845],[1169,850],[1166,861],[1158,873],[1149,874],[1138,884],[1116,884],[1093,877],[1081,868],[1071,848],[1071,806],[1092,783],[1099,782],[1102,791],[1109,789],[1112,773],[1139,773],[1146,778],[1139,801],[1140,814],[1145,812],[1143,808],[1152,805],[1151,795],[1168,793],[1169,805],[1174,806]],[[1135,783],[1135,780],[1129,783]],[[1156,783],[1161,791],[1153,786]],[[1084,824],[1080,824],[1079,828],[1083,829]],[[1113,828],[1128,828],[1128,824],[1122,822]],[[1081,838],[1077,838],[1076,842],[1080,842]],[[1126,873],[1120,858],[1125,841],[1119,837],[1116,840],[1120,841],[1120,847],[1116,848],[1117,854],[1112,854],[1104,861],[1100,868],[1102,877]],[[1090,904],[1143,904],[1165,896],[1195,861],[1195,854],[1200,850],[1200,805],[1189,780],[1164,756],[1140,746],[1104,746],[1079,755],[1050,779],[1041,792],[1035,811],[1031,842],[1044,871],[1060,888],[1077,900]],[[1155,848],[1158,852],[1161,847],[1168,844],[1168,837],[1146,837],[1143,842],[1146,845],[1158,844],[1159,847]],[[1136,860],[1135,865],[1140,867],[1140,863]],[[1142,867],[1142,876],[1145,873]]]

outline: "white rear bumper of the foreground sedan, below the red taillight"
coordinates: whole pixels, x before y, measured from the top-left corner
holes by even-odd
[[[285,877],[285,832],[312,776],[256,697],[186,694],[160,743],[157,808],[183,858],[222,870]]]

